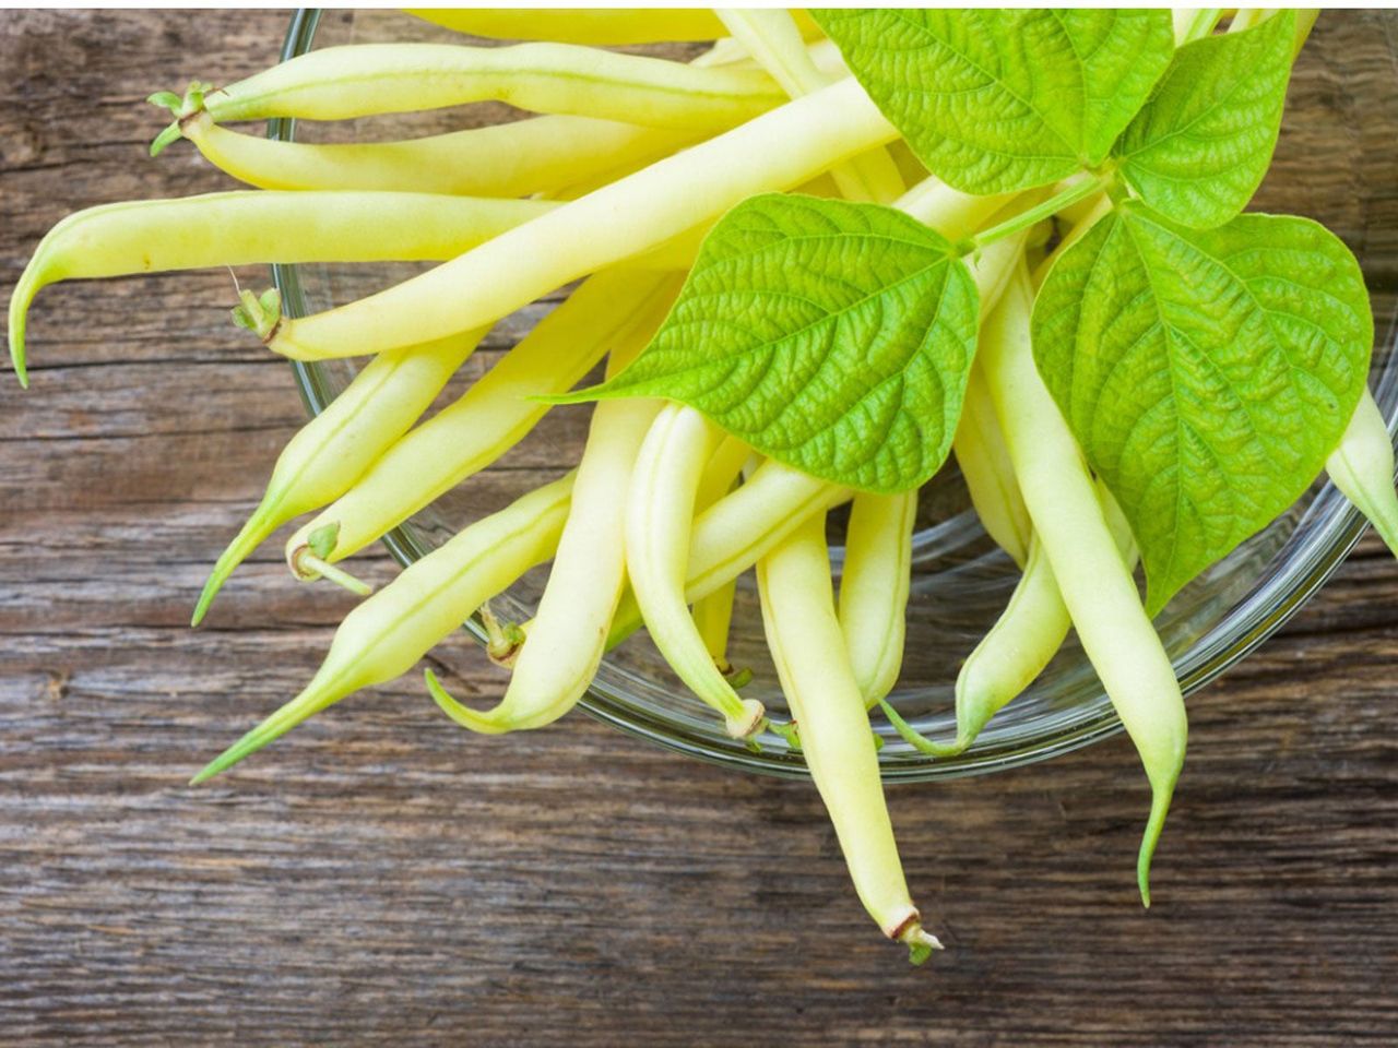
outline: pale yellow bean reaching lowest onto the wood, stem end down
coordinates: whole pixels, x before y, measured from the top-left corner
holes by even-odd
[[[823,513],[758,562],[758,590],[768,647],[800,725],[801,753],[835,824],[854,890],[884,935],[923,960],[941,943],[923,931],[903,878],[864,696],[835,615]]]

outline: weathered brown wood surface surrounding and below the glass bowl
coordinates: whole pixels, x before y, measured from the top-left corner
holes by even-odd
[[[73,207],[222,184],[145,159],[140,99],[250,71],[284,25],[0,13],[0,292]],[[1151,912],[1124,739],[895,791],[951,947],[925,970],[867,925],[811,788],[586,718],[471,738],[408,679],[185,787],[347,606],[274,544],[186,627],[301,419],[226,298],[53,289],[34,388],[0,383],[0,1042],[1398,1041],[1398,566],[1371,539],[1192,703]]]

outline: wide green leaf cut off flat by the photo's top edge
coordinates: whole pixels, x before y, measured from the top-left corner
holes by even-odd
[[[1169,11],[811,11],[927,169],[1008,193],[1106,159],[1174,52]]]

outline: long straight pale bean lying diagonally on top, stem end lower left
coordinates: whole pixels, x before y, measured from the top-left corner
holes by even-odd
[[[285,321],[270,345],[298,359],[354,356],[493,323],[754,193],[801,184],[896,134],[858,84],[842,81],[569,201],[431,272]]]

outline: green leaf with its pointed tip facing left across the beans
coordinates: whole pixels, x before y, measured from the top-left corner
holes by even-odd
[[[751,197],[644,352],[570,400],[668,397],[814,476],[907,490],[951,450],[977,316],[952,245],[903,212]]]

